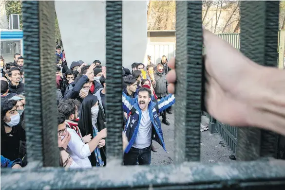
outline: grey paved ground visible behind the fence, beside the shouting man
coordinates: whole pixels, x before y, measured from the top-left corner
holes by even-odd
[[[173,164],[175,143],[174,113],[172,115],[167,114],[167,117],[169,118],[168,121],[171,123],[170,126],[162,123],[161,127],[163,130],[166,149],[169,153],[166,153],[157,142],[153,141],[153,145],[157,149],[157,153],[152,152],[152,165]],[[228,158],[229,155],[232,155],[232,152],[219,134],[211,135],[209,130],[201,132],[201,162],[210,163],[233,161]]]

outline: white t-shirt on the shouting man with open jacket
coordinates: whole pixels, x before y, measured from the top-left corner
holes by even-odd
[[[133,143],[134,148],[147,148],[152,143],[152,121],[149,115],[149,109],[142,111],[138,132]]]

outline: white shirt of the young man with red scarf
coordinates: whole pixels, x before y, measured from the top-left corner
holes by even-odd
[[[82,141],[74,129],[67,128],[67,131],[70,133],[71,139],[66,151],[80,168],[91,168],[92,165],[88,159],[88,156],[91,155],[89,145]]]

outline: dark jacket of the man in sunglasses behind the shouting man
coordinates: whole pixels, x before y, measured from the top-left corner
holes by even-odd
[[[154,79],[156,83],[156,84],[153,84],[153,88],[154,88],[156,96],[160,98],[166,96],[167,86],[168,86],[168,82],[166,80],[166,74],[164,72],[160,74],[156,70],[155,72],[153,72],[153,75],[154,75]]]

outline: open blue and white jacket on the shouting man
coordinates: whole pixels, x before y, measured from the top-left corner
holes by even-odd
[[[125,153],[128,153],[130,149],[132,148],[135,138],[137,136],[142,111],[139,108],[137,98],[130,98],[125,93],[123,93],[122,102],[123,102],[123,109],[125,112],[127,112],[128,115],[131,112],[132,108],[135,109],[135,113],[129,116],[128,121],[126,122],[126,126],[125,126],[125,133],[129,141],[129,144],[127,148],[125,149]],[[169,94],[168,96],[160,99],[160,101],[158,101],[158,113],[167,109],[174,103],[175,103],[175,97],[172,94]],[[150,119],[152,121],[152,140],[155,140],[156,142],[158,142],[162,146],[162,148],[166,151],[164,140],[163,140],[163,134],[161,130],[161,123],[158,118],[155,105],[156,103],[151,101],[148,106]]]

